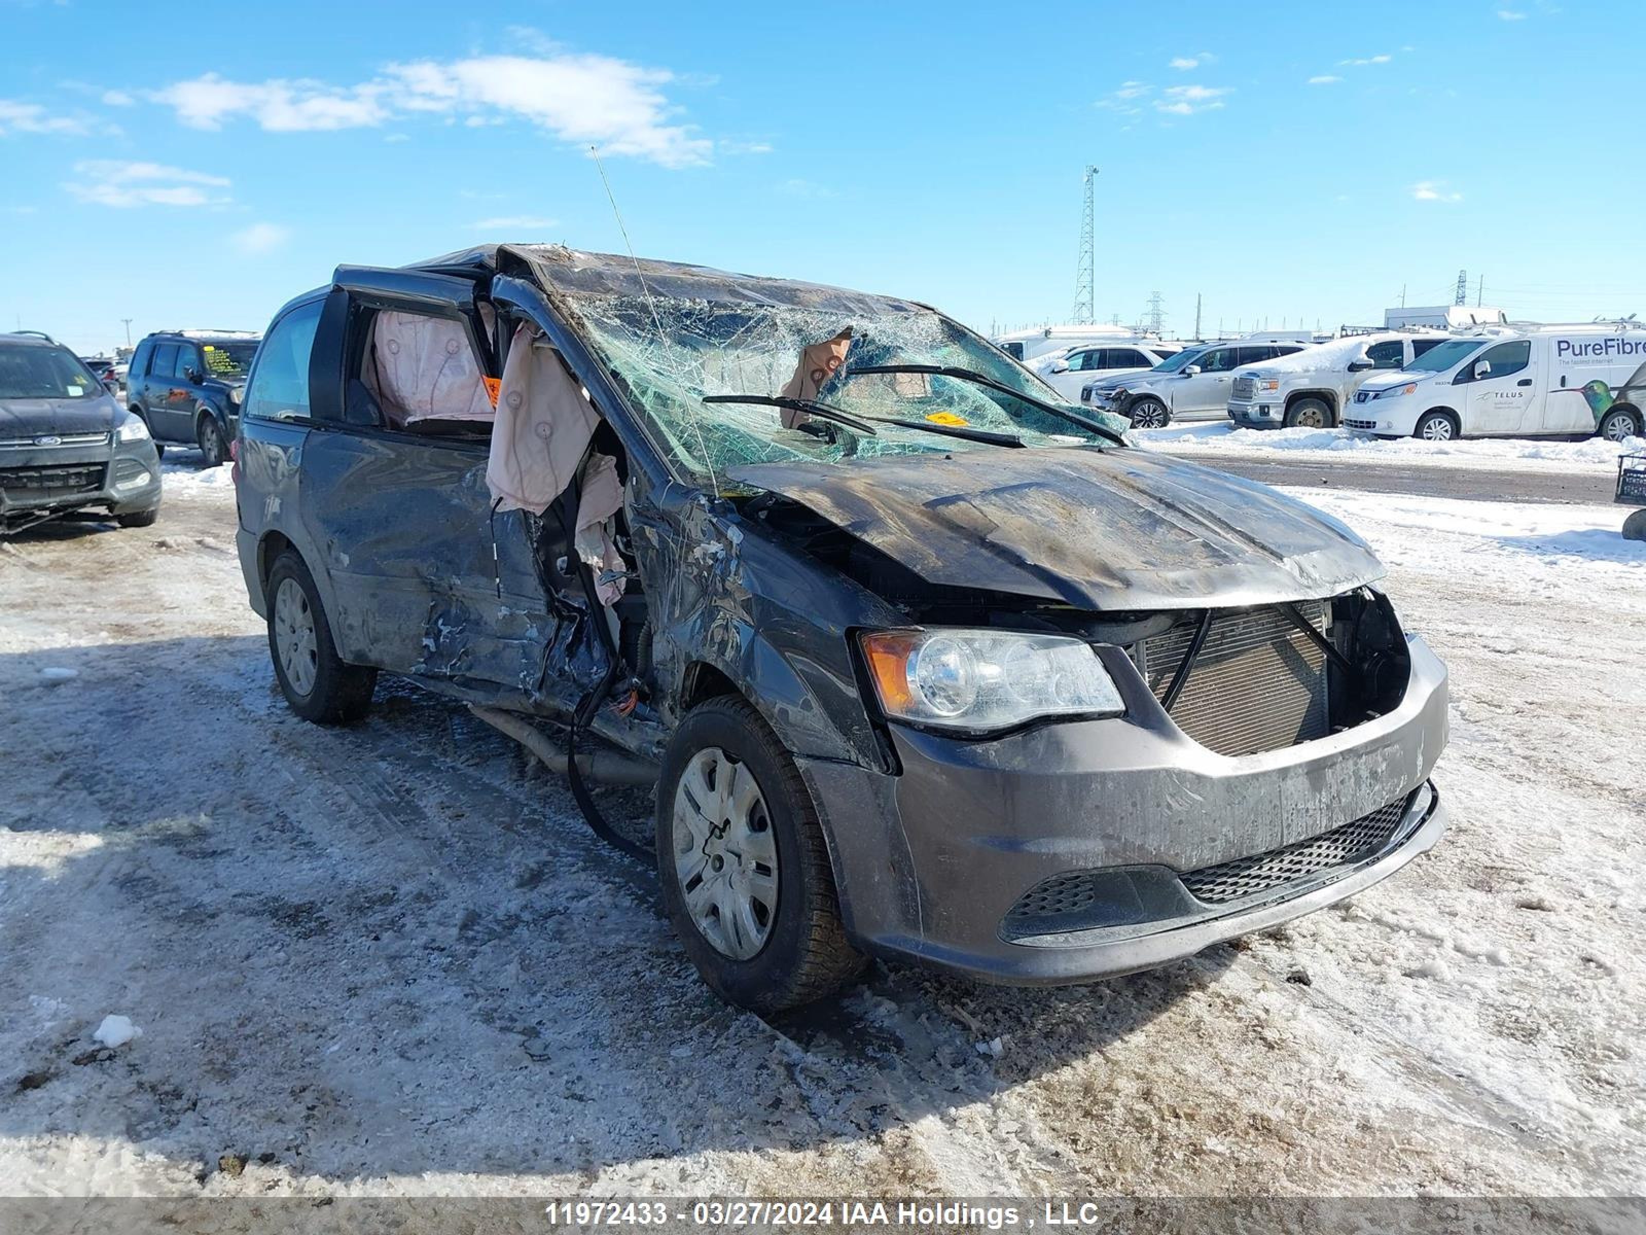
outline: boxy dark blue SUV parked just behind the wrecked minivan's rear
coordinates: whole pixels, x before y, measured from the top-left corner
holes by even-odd
[[[207,468],[227,461],[258,343],[249,331],[156,331],[137,344],[127,405],[161,453],[179,441],[199,446]]]

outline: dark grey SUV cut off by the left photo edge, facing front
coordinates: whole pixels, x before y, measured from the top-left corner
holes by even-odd
[[[0,334],[0,534],[89,510],[123,527],[160,515],[148,430],[63,344]]]

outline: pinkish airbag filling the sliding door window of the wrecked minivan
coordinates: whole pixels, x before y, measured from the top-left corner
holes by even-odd
[[[453,318],[384,310],[372,324],[365,370],[392,425],[494,415],[469,333]]]

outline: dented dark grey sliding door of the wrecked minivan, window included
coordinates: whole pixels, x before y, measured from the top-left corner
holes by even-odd
[[[525,515],[494,512],[486,486],[495,351],[469,280],[339,268],[311,361],[301,517],[344,659],[530,695],[553,619]]]

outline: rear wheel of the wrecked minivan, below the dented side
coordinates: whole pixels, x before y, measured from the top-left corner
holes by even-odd
[[[268,655],[286,706],[316,725],[360,720],[372,706],[377,670],[339,659],[319,590],[303,558],[281,553],[268,571],[263,596],[268,598]]]

